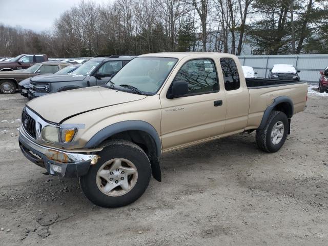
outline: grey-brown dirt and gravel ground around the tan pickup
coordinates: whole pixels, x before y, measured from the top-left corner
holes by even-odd
[[[327,96],[310,94],[279,152],[252,133],[163,155],[163,181],[118,209],[20,153],[25,103],[0,95],[0,245],[327,245]]]

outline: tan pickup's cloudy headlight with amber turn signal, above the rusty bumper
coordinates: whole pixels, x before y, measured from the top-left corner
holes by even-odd
[[[66,144],[73,140],[76,132],[76,127],[63,128],[46,126],[42,130],[42,139],[52,144]]]

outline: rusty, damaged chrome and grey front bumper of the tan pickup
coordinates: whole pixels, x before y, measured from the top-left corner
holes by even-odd
[[[90,165],[98,161],[98,155],[67,152],[36,144],[19,128],[19,147],[24,156],[36,165],[47,169],[51,175],[80,177],[88,173]]]

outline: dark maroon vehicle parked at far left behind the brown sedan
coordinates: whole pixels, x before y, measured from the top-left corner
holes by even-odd
[[[43,61],[48,61],[45,54],[22,54],[11,58],[9,61],[0,61],[0,71],[26,69]]]

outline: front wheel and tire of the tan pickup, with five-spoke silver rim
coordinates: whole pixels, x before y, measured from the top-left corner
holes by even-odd
[[[87,175],[80,177],[81,189],[91,202],[100,207],[116,208],[126,206],[144,194],[149,185],[151,165],[139,146],[127,140],[110,140],[98,155],[100,159],[96,165],[90,167]],[[136,174],[129,175],[134,169]],[[112,189],[114,182],[122,185]]]

